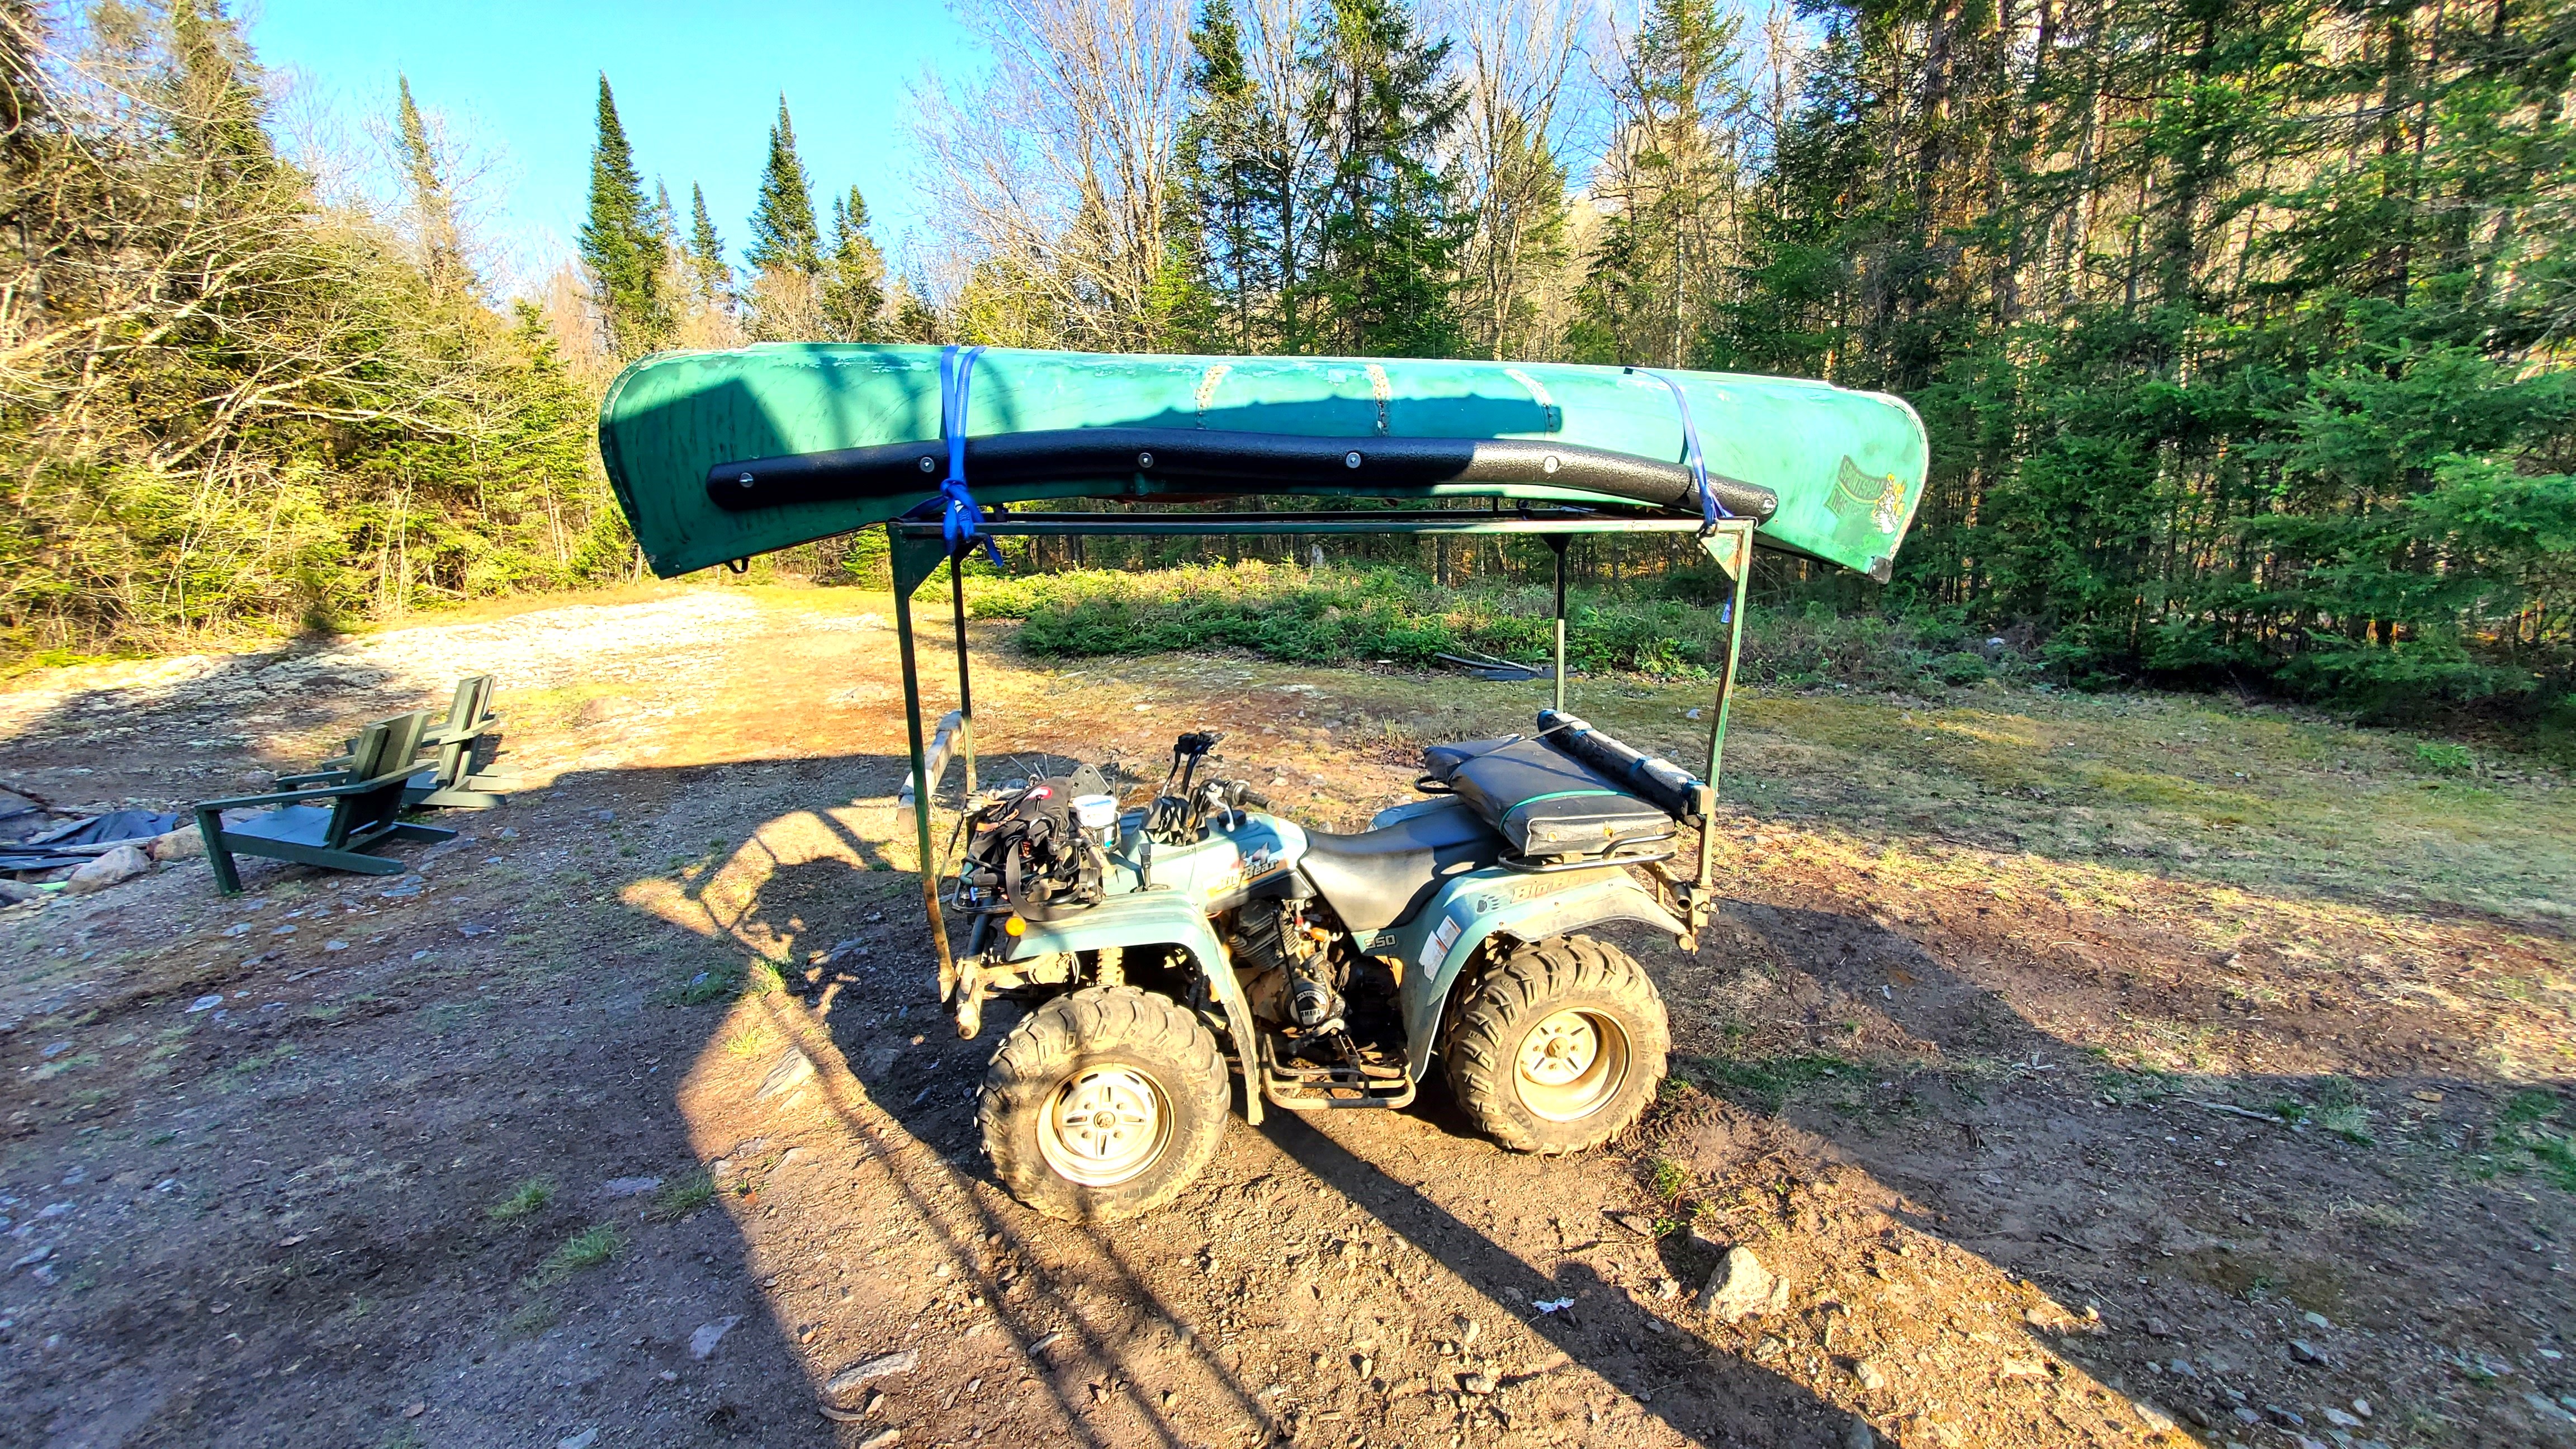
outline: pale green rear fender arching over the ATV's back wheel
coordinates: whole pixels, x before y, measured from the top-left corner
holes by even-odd
[[[1546,941],[1602,920],[1638,920],[1672,936],[1690,933],[1628,871],[1613,866],[1561,874],[1497,866],[1443,884],[1419,915],[1394,931],[1396,954],[1404,959],[1396,993],[1404,1011],[1404,1070],[1417,1083],[1430,1073],[1450,987],[1486,938]]]

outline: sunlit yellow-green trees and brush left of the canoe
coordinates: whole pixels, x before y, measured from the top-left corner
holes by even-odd
[[[616,578],[595,394],[466,255],[435,126],[394,201],[281,157],[222,10],[0,3],[0,645],[183,645]]]

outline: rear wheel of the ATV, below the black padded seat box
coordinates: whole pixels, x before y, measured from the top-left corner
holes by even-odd
[[[1664,1080],[1664,998],[1618,946],[1515,946],[1466,985],[1443,1055],[1450,1091],[1515,1152],[1582,1152],[1628,1129]]]

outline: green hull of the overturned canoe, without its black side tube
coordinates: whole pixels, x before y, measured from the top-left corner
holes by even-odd
[[[1358,454],[1370,438],[1517,438],[1625,454],[1667,464],[1649,472],[1669,472],[1682,459],[1682,420],[1662,376],[1690,400],[1708,472],[1777,495],[1777,511],[1762,523],[1765,544],[1886,575],[1922,498],[1924,431],[1896,397],[1821,382],[1569,364],[989,348],[974,369],[966,433],[1185,431],[1190,454],[1224,449],[1211,433],[1247,433],[1247,446],[1255,433],[1347,438]],[[878,487],[868,498],[719,505],[708,495],[719,464],[930,443],[938,436],[940,348],[920,345],[765,343],[662,353],[629,366],[600,407],[608,480],[647,562],[665,578],[896,518],[938,498],[945,474],[940,467],[917,490]],[[1097,459],[1072,477],[976,482],[974,467],[966,477],[981,503],[1224,492],[1206,474],[1157,477],[1151,467],[1113,469]],[[1262,477],[1252,449],[1242,490],[1636,508],[1636,495],[1492,482],[1473,469],[1453,482],[1425,480],[1419,469],[1401,480],[1355,469],[1347,485],[1301,480],[1288,487]],[[1721,485],[1718,498],[1741,500],[1744,492]],[[1687,511],[1698,511],[1695,500]]]

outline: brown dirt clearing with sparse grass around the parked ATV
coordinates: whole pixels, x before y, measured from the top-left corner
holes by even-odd
[[[5,1439],[2576,1444],[2558,776],[2205,699],[1752,696],[1723,920],[1623,938],[1677,1039],[1628,1142],[1515,1158],[1435,1083],[1236,1119],[1079,1230],[976,1145],[1015,1013],[933,1000],[886,611],[667,588],[0,691],[0,784],[70,807],[260,789],[466,670],[523,773],[404,877],[0,913]],[[1340,828],[1543,688],[1007,639],[989,779],[1216,727]],[[1574,681],[1664,748],[1700,694]],[[1695,1310],[1726,1245],[1777,1310]]]

